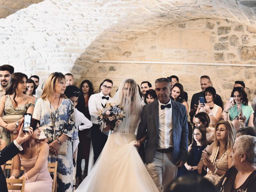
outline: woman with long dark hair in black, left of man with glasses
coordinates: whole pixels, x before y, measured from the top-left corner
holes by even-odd
[[[78,97],[78,103],[76,108],[80,111],[86,118],[91,119],[88,101],[92,94],[94,94],[92,83],[89,80],[83,80],[80,84],[80,96]],[[76,160],[76,187],[82,182],[82,168],[81,163],[82,159],[85,160],[84,166],[84,177],[88,173],[88,163],[89,163],[89,154],[90,154],[90,145],[91,145],[91,129],[78,130],[79,144]]]

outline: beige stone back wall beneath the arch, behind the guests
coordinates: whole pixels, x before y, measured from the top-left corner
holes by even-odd
[[[232,20],[196,19],[173,22],[130,38],[99,60],[256,64],[255,45],[256,30],[250,26]],[[235,80],[245,82],[250,100],[256,95],[255,67],[126,63],[94,63],[87,67],[79,82],[92,80],[96,88],[104,78],[113,79],[114,86],[124,78],[154,84],[156,78],[175,74],[190,100],[200,91],[200,76],[208,75],[224,101],[230,97]]]

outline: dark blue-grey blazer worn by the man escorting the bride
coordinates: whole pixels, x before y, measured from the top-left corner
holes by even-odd
[[[172,103],[172,132],[174,150],[172,162],[177,160],[186,162],[188,155],[188,122],[186,107],[171,100]],[[153,161],[156,154],[159,132],[158,100],[143,106],[141,120],[138,127],[137,140],[140,140],[146,133],[148,139],[145,144],[144,161],[148,164]],[[171,159],[170,159],[171,160]]]

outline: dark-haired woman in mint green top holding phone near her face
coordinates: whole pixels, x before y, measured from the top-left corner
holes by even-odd
[[[234,97],[234,102],[230,101],[225,106],[224,120],[241,119],[241,110],[244,117],[243,121],[240,121],[241,126],[253,126],[253,109],[248,105],[248,98],[246,92],[241,87],[235,87],[232,90],[231,97]]]

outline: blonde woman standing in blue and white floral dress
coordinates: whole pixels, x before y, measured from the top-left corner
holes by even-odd
[[[78,130],[74,122],[74,107],[65,96],[65,76],[55,72],[46,80],[42,96],[37,100],[33,118],[40,126],[49,144],[48,162],[58,161],[58,191],[73,191],[72,140],[77,139]]]

